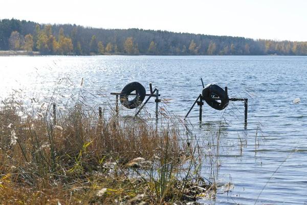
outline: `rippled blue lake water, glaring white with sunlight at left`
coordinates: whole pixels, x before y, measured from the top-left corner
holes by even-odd
[[[138,81],[147,93],[152,83],[162,98],[171,99],[167,110],[182,119],[202,93],[201,78],[205,85],[227,86],[229,97],[248,98],[247,129],[242,101],[223,111],[205,103],[202,122],[198,106],[188,116],[194,133],[204,141],[215,135],[221,118],[227,122],[222,127],[216,178],[221,185],[231,181],[234,188],[228,193],[220,188],[215,201],[200,202],[307,203],[307,57],[5,56],[0,57],[0,70],[1,99],[22,96],[31,103],[53,97],[65,107],[80,97],[83,78],[86,103],[114,106],[110,93]],[[297,97],[301,101],[294,104]],[[153,100],[147,110],[155,115]],[[120,112],[133,111],[121,107]],[[202,176],[209,174],[204,164]]]

